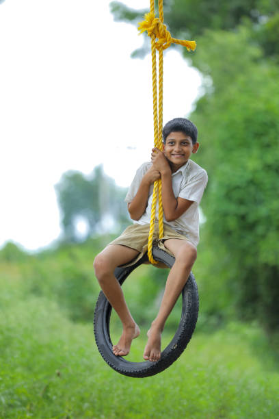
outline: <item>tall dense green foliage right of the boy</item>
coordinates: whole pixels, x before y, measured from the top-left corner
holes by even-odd
[[[226,277],[235,283],[243,315],[261,318],[274,330],[279,317],[279,88],[274,80],[279,71],[261,60],[261,51],[248,40],[247,29],[204,36],[194,63],[207,65],[214,88],[191,118],[200,130],[200,162],[210,179],[203,201],[207,238],[230,255]]]

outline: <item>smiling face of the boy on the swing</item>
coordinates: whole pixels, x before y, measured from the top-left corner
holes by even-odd
[[[189,160],[191,153],[198,151],[199,145],[198,142],[193,144],[191,137],[181,131],[171,132],[165,139],[163,151],[172,170],[178,170],[183,166]]]

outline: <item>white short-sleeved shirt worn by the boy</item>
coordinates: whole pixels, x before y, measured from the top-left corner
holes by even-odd
[[[129,203],[133,201],[135,194],[139,188],[139,185],[142,181],[142,178],[146,174],[147,170],[152,166],[152,162],[147,162],[142,164],[137,169],[135,177],[131,183],[131,186],[127,192],[127,195],[124,199],[125,202]],[[198,164],[193,162],[193,160],[188,160],[181,168],[179,168],[175,173],[172,173],[172,189],[174,191],[174,196],[176,199],[178,197],[188,199],[189,201],[194,201],[191,206],[185,211],[180,217],[176,218],[174,221],[166,221],[165,216],[163,221],[165,224],[168,224],[172,229],[178,233],[183,234],[188,238],[188,240],[198,246],[199,242],[199,214],[198,214],[198,205],[202,199],[202,195],[205,187],[207,186],[207,172],[200,167]],[[133,220],[134,224],[149,224],[150,223],[150,214],[152,206],[152,194],[153,194],[153,184],[150,186],[148,194],[148,204],[146,211],[142,214],[139,220]],[[157,204],[157,213],[156,218],[158,218],[158,204]]]

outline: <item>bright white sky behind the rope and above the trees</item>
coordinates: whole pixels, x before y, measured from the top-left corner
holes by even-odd
[[[130,58],[142,38],[107,0],[0,0],[0,246],[59,236],[54,185],[66,170],[103,164],[129,186],[150,159],[150,55]],[[165,53],[164,123],[189,114],[199,87],[198,72]]]

